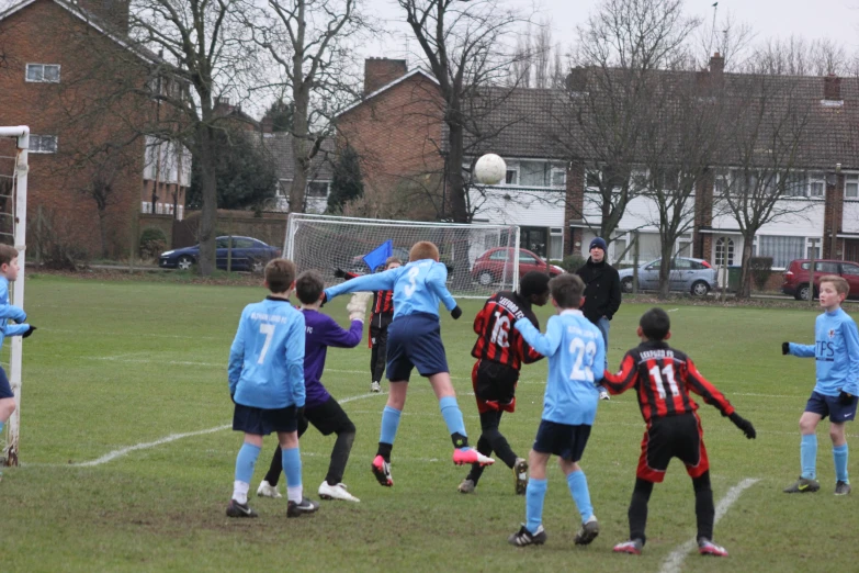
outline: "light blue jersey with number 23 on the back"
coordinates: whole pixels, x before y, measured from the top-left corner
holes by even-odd
[[[592,425],[597,417],[606,342],[581,311],[563,311],[549,319],[546,334],[519,319],[516,329],[525,341],[549,358],[549,381],[543,398],[543,419],[556,424]]]

